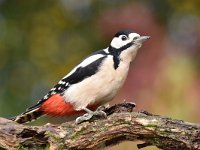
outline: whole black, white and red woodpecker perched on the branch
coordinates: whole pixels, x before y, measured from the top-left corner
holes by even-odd
[[[26,123],[43,115],[63,117],[84,114],[76,123],[106,113],[99,106],[111,101],[122,87],[138,49],[149,36],[130,30],[115,34],[109,47],[82,60],[38,103],[12,120]]]

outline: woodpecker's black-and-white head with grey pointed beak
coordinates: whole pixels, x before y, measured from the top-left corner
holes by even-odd
[[[109,51],[118,54],[122,59],[130,57],[130,61],[132,61],[142,43],[149,38],[150,36],[141,36],[130,30],[122,30],[115,34],[110,43]]]

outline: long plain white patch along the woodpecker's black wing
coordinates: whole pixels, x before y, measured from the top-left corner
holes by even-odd
[[[96,61],[97,59],[102,58],[104,56],[105,55],[103,55],[103,54],[96,54],[96,55],[92,55],[92,56],[86,58],[80,64],[78,64],[72,71],[70,71],[63,79],[65,79],[65,78],[69,77],[70,75],[72,75],[76,71],[77,68],[85,67],[85,66],[91,64],[92,62]]]

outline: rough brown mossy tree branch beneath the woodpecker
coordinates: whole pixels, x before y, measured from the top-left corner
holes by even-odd
[[[27,126],[0,118],[0,149],[98,149],[119,142],[144,141],[138,148],[200,150],[200,125],[147,112],[131,112],[133,103],[106,108],[107,119],[76,125]]]

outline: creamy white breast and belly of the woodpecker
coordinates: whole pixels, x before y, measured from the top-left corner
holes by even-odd
[[[77,110],[94,103],[104,104],[112,100],[127,77],[129,64],[120,62],[115,70],[113,56],[109,55],[100,66],[100,71],[71,85],[64,92],[65,100],[72,103]]]

